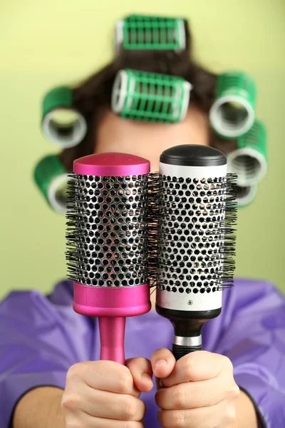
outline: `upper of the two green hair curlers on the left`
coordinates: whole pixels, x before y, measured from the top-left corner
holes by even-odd
[[[73,91],[67,86],[52,89],[43,98],[43,135],[62,148],[81,143],[86,135],[85,118],[73,108]]]

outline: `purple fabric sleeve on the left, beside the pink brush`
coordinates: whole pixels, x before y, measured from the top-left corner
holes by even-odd
[[[72,295],[61,294],[51,305],[37,291],[11,292],[0,304],[1,428],[9,427],[25,392],[42,385],[64,388],[68,368],[87,360],[90,320],[71,310]]]

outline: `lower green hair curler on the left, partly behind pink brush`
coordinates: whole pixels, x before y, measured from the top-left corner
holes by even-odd
[[[48,205],[57,213],[66,213],[67,183],[71,178],[58,157],[42,158],[33,170],[33,179]]]

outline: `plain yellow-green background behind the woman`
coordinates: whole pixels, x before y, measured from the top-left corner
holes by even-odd
[[[269,173],[257,200],[239,210],[237,275],[285,290],[284,0],[1,0],[1,289],[51,290],[66,275],[65,218],[33,185],[38,158],[56,153],[39,128],[41,97],[113,56],[125,14],[190,19],[196,57],[214,71],[240,68],[257,83],[257,116],[269,132]],[[285,263],[284,263],[285,264]]]

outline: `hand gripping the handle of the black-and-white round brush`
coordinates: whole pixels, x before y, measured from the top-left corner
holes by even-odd
[[[151,364],[162,379],[155,401],[163,428],[234,427],[239,387],[227,357],[197,351],[175,362],[170,350],[160,349]]]

